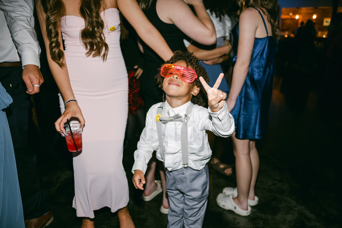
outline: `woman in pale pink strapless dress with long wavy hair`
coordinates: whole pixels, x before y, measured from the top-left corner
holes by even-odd
[[[120,227],[134,227],[122,165],[128,78],[120,50],[119,9],[163,59],[173,55],[135,0],[37,1],[49,66],[60,89],[63,113],[56,130],[65,131],[71,117],[84,126],[83,149],[73,158],[73,207],[84,218],[82,227],[94,227],[93,211],[105,206],[118,211]],[[64,105],[68,100],[73,101]]]

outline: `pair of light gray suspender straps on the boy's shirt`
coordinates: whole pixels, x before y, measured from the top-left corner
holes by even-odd
[[[185,116],[183,118],[182,128],[181,128],[181,147],[182,147],[182,162],[183,165],[186,167],[189,164],[189,151],[188,151],[188,128],[187,128],[187,119],[190,116],[190,113],[194,107],[193,103],[190,103],[189,106],[186,108]],[[158,134],[158,141],[159,141],[159,153],[160,157],[165,162],[165,151],[163,148],[163,138],[161,133],[161,121],[159,117],[161,116],[162,110],[164,108],[164,103],[157,108],[157,134]]]

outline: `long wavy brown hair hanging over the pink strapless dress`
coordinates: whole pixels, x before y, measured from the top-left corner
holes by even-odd
[[[49,39],[49,50],[53,61],[62,67],[64,54],[58,40],[60,19],[65,15],[65,5],[62,0],[37,0],[46,14],[46,32]],[[108,44],[103,35],[104,22],[100,16],[102,0],[81,0],[80,14],[84,19],[85,27],[80,33],[82,42],[87,50],[87,56],[101,56],[107,59]]]

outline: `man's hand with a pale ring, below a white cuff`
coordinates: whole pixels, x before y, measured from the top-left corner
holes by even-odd
[[[26,84],[28,94],[39,93],[39,86],[44,82],[43,76],[36,65],[25,65],[23,70],[23,80]]]

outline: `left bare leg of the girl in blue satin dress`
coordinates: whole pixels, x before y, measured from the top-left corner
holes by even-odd
[[[232,135],[233,151],[235,155],[236,183],[238,196],[234,202],[242,210],[248,210],[248,196],[252,179],[252,162],[250,158],[250,140],[238,139]]]

